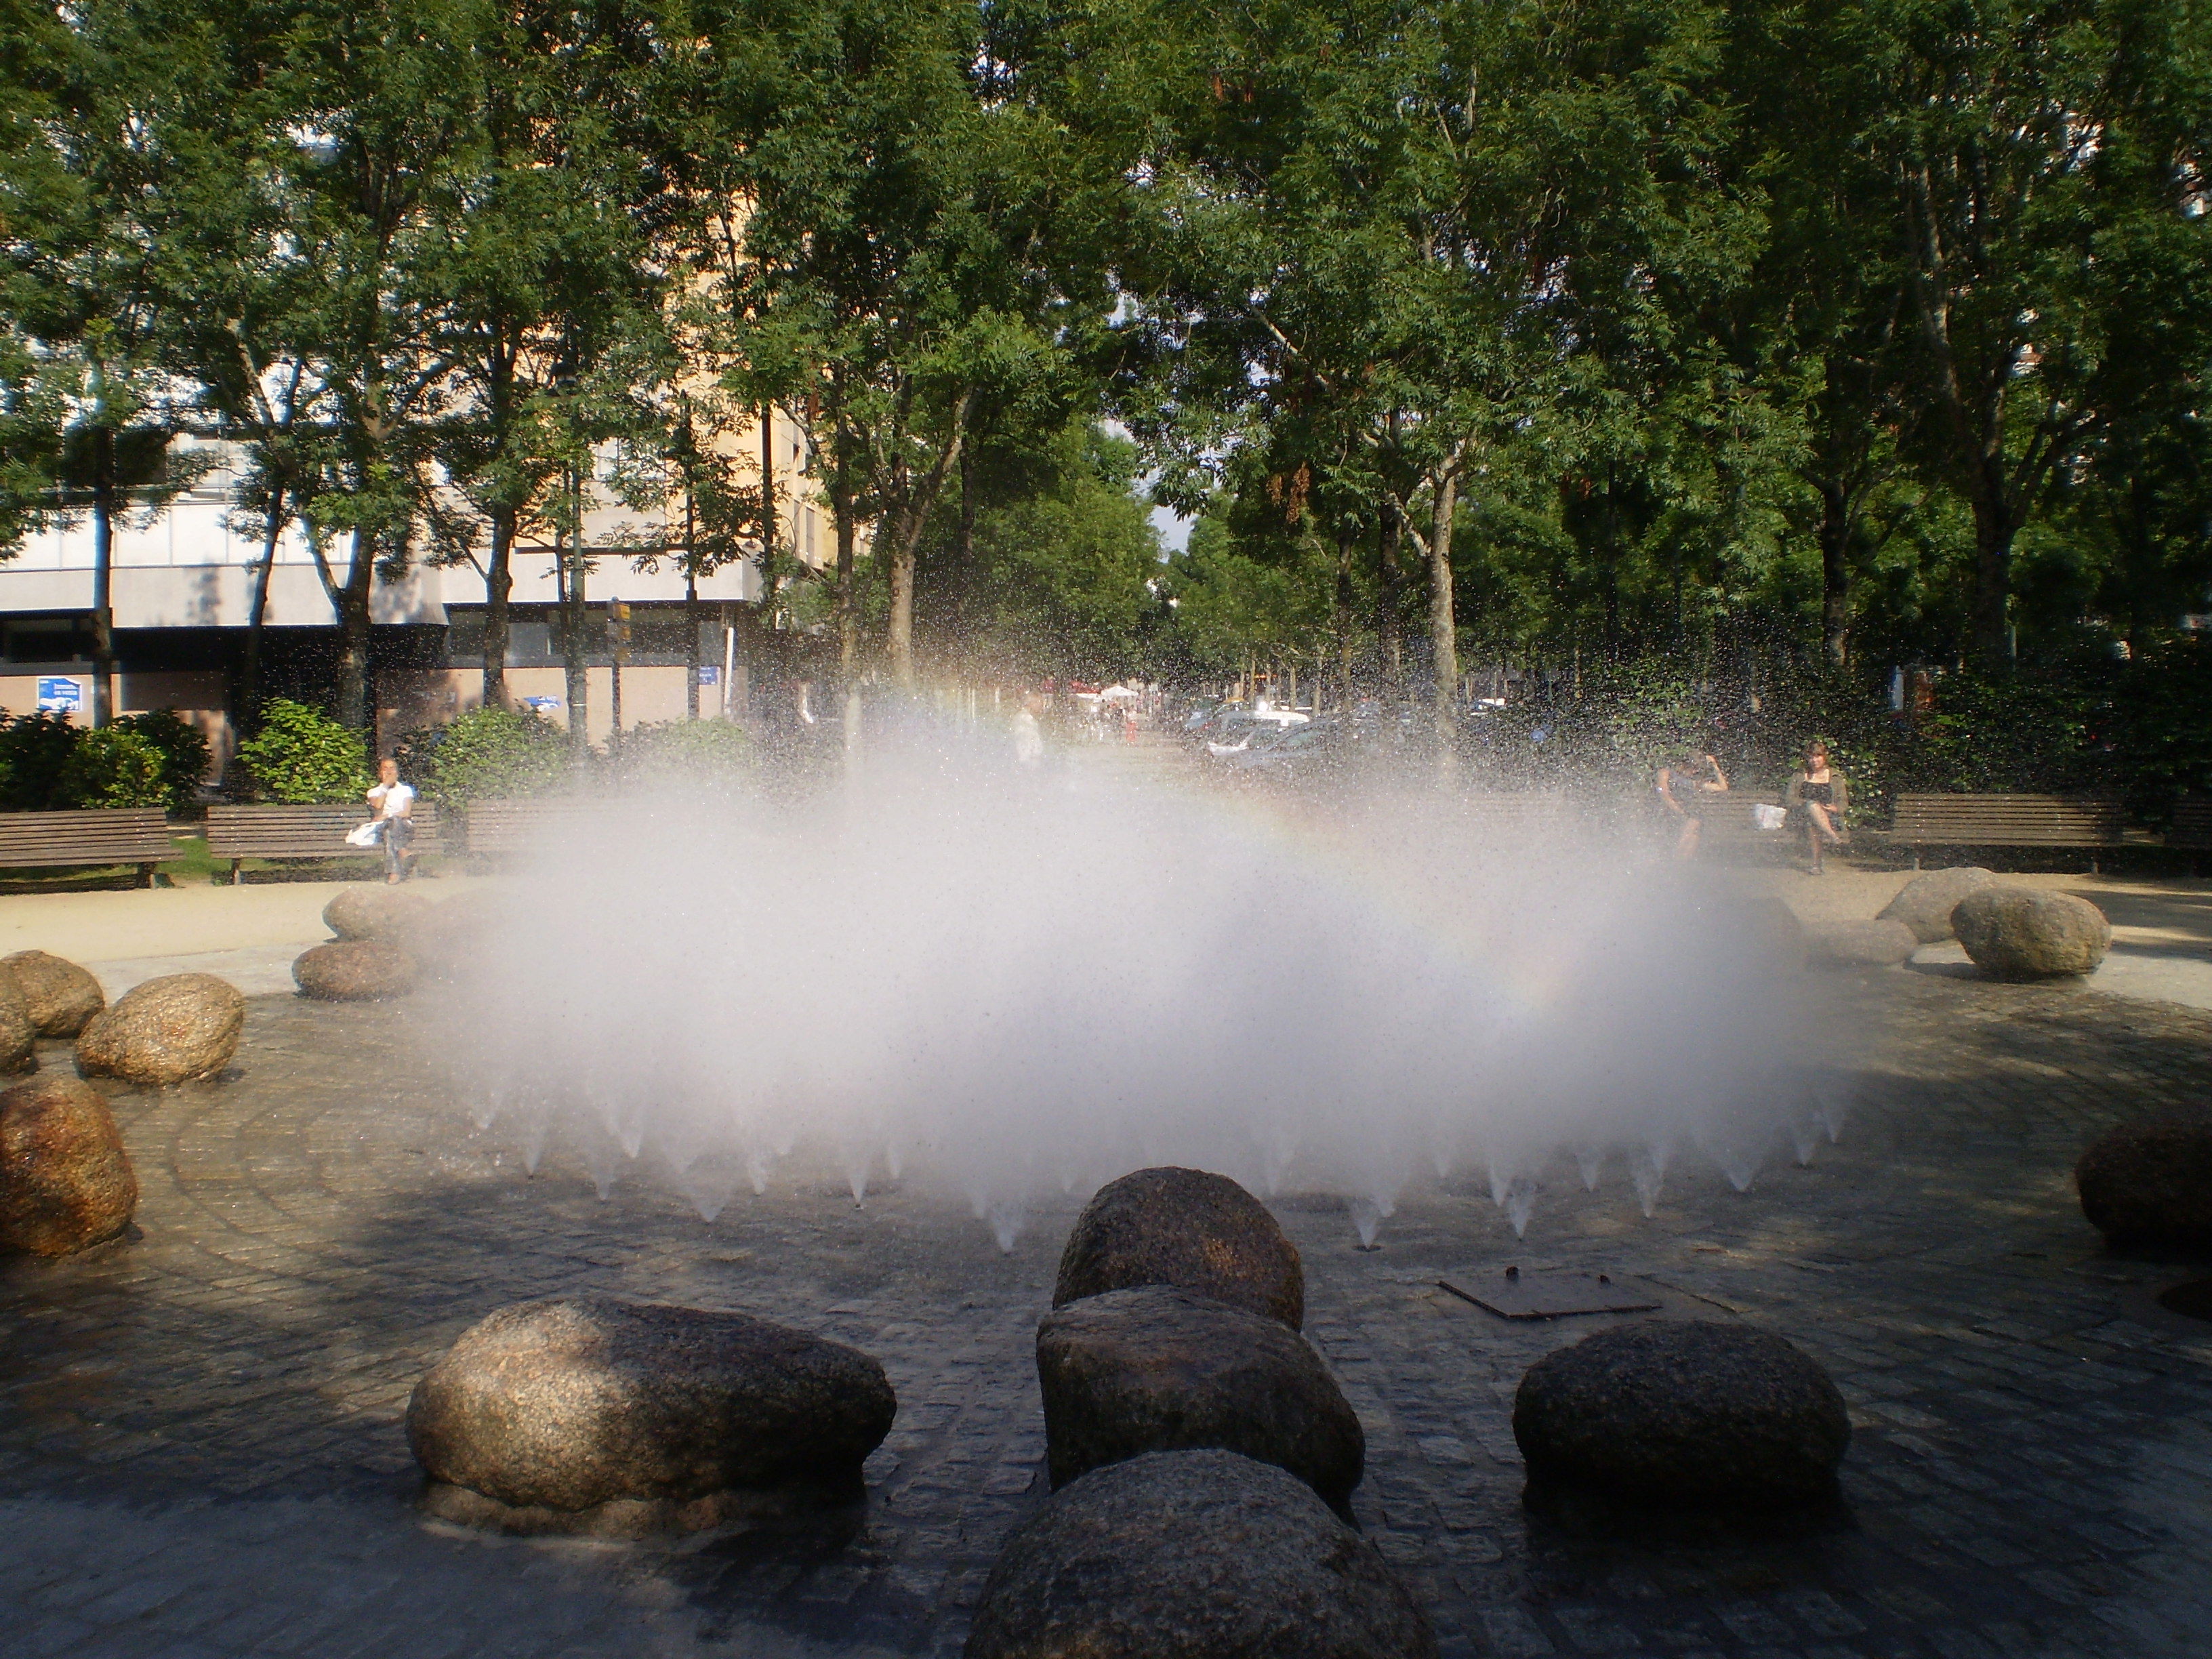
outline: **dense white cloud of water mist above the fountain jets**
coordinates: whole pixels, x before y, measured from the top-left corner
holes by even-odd
[[[706,1221],[805,1155],[854,1201],[956,1192],[1002,1248],[1155,1164],[1340,1194],[1369,1243],[1464,1175],[1520,1232],[1559,1168],[1650,1214],[1686,1157],[1743,1188],[1840,1128],[1754,911],[1480,796],[869,754],[805,807],[606,803],[502,887],[442,1004],[478,1124]]]

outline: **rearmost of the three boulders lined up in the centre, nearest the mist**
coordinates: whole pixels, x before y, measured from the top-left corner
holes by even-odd
[[[1267,1206],[1225,1175],[1135,1170],[1075,1217],[1060,1252],[1053,1307],[1135,1285],[1177,1285],[1305,1323],[1305,1265]]]

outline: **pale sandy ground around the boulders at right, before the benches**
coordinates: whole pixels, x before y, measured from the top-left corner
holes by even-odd
[[[1778,894],[1801,918],[1816,922],[1878,914],[1913,872],[1832,863],[1825,876],[1747,869],[1743,878],[1759,891]],[[2000,880],[2079,894],[2112,918],[2112,953],[2086,984],[2124,998],[2212,1009],[2212,880],[2062,874],[2013,874]],[[1924,973],[1973,973],[1955,942],[1920,947],[1913,967]]]

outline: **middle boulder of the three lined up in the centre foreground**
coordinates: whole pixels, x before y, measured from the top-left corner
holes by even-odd
[[[1221,1447],[1343,1509],[1367,1438],[1314,1347],[1265,1314],[1172,1285],[1086,1296],[1037,1325],[1053,1486],[1144,1451]]]

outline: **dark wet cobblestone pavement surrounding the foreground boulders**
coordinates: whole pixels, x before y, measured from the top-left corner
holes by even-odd
[[[2201,1097],[2212,1020],[1887,973],[1887,1037],[1812,1168],[1677,1170],[1646,1221],[1562,1166],[1515,1243],[1486,1183],[1356,1250],[1285,1199],[1310,1334],[1369,1433],[1356,1511],[1447,1655],[2057,1659],[2212,1648],[2212,1325],[2185,1263],[2101,1252],[2068,1166]],[[55,1046],[46,1064],[66,1064]],[[252,1004],[239,1073],[117,1095],[142,1237],[0,1265],[0,1652],[951,1655],[1042,1498],[1031,1334],[1071,1212],[1011,1254],[964,1208],[843,1183],[538,1179],[438,1088],[405,1009]],[[1851,1400],[1847,1515],[1796,1535],[1537,1517],[1513,1387],[1595,1321],[1436,1287],[1517,1261],[1648,1274],[1818,1354]],[[2203,1272],[2201,1267],[2197,1272]],[[509,1540],[411,1509],[407,1391],[471,1321],[555,1290],[743,1307],[883,1358],[900,1413],[858,1531],[690,1546]],[[1725,1310],[1725,1312],[1721,1312]]]

